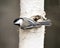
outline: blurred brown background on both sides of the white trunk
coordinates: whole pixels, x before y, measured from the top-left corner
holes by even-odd
[[[0,48],[18,48],[19,0],[0,0]],[[60,48],[60,0],[45,0],[46,17],[52,26],[46,27],[45,48]]]

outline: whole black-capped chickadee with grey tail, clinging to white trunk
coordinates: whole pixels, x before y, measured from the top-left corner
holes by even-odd
[[[14,20],[14,24],[20,26],[21,29],[31,29],[41,27],[41,25],[50,26],[51,21],[43,20],[42,22],[36,22],[32,19],[24,17],[24,18],[17,18],[16,20]]]

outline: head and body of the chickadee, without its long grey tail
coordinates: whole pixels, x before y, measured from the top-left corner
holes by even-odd
[[[20,26],[22,29],[33,28],[36,26],[36,22],[29,18],[17,18],[14,20],[14,24]]]

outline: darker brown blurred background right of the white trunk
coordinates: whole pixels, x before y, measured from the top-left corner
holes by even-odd
[[[45,48],[60,48],[60,0],[45,0],[46,17],[52,26],[46,27]]]

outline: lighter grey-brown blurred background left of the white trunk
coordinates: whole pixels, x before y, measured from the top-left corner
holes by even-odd
[[[19,0],[0,0],[0,48],[18,48]]]

